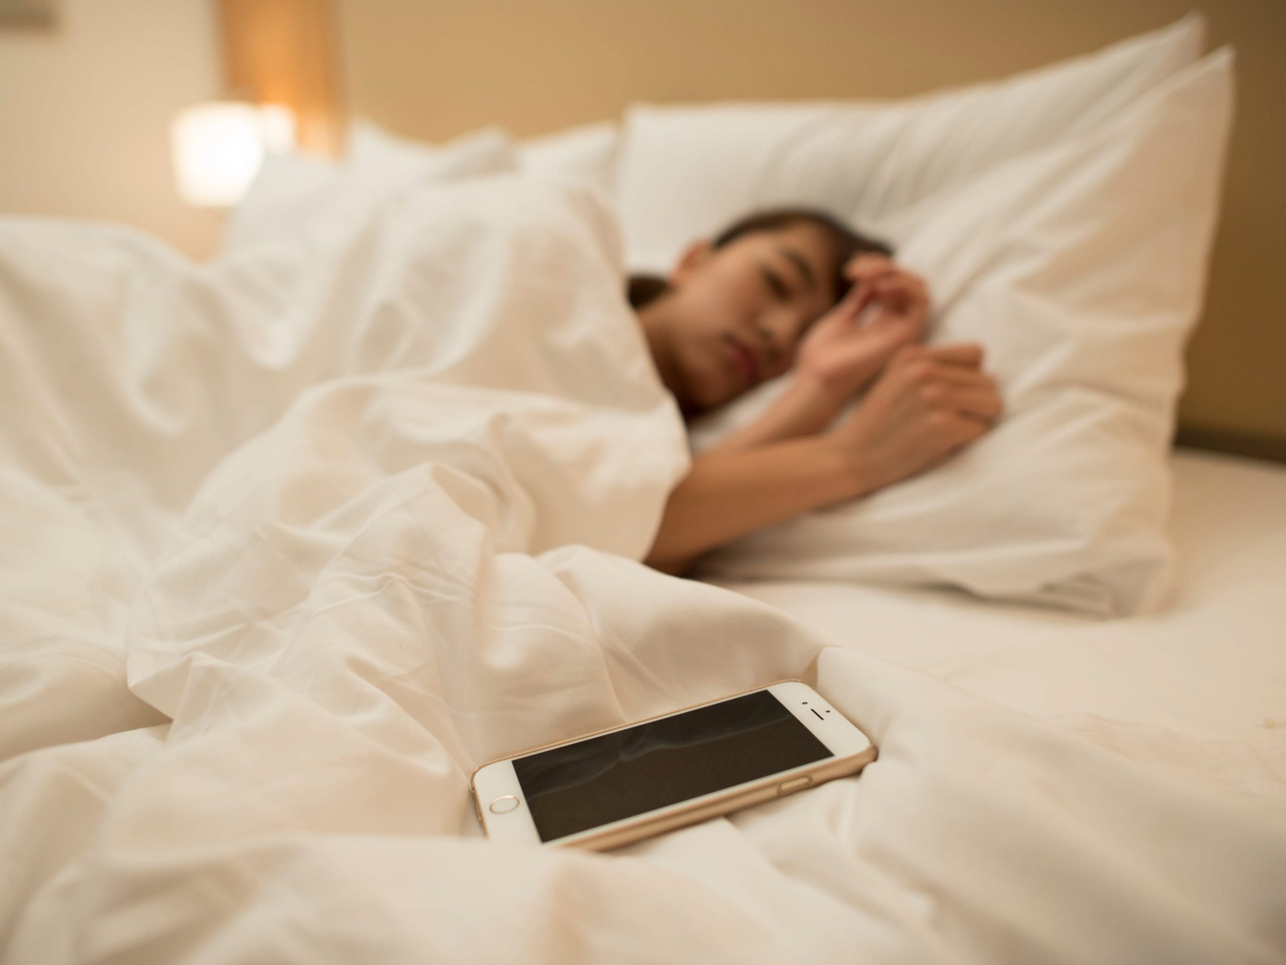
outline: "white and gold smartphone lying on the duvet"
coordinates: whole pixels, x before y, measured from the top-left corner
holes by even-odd
[[[606,850],[855,775],[874,758],[811,687],[782,681],[493,760],[471,784],[493,840]]]

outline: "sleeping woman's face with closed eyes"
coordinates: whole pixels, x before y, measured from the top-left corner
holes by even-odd
[[[657,304],[680,404],[712,409],[790,369],[804,331],[835,304],[835,260],[808,221],[689,248]]]

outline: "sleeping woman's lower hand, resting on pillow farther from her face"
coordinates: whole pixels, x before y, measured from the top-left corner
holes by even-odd
[[[853,495],[914,476],[986,432],[1001,414],[977,345],[904,347],[862,405],[827,436],[853,470]]]

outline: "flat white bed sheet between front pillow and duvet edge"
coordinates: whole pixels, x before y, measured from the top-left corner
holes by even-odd
[[[1286,467],[1195,450],[1172,464],[1181,574],[1151,616],[1098,620],[950,589],[720,585],[1172,776],[1286,795]]]

